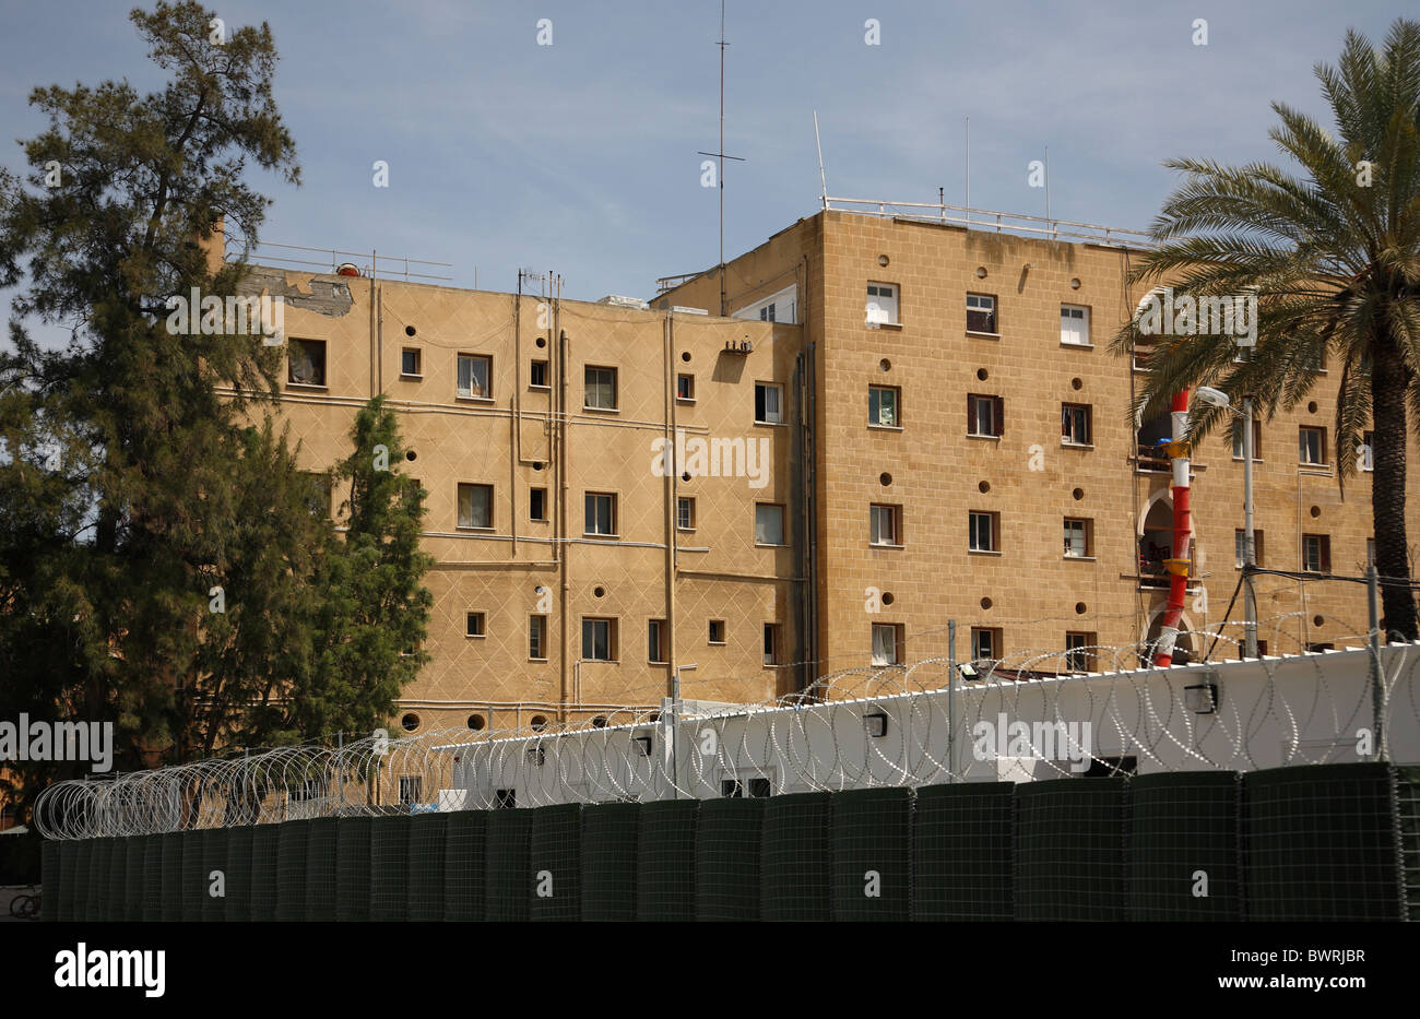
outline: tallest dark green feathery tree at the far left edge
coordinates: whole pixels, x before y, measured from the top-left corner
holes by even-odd
[[[115,721],[121,768],[212,745],[212,705],[237,691],[203,688],[206,673],[236,668],[246,697],[261,671],[233,617],[280,622],[301,580],[300,563],[257,562],[244,529],[293,512],[285,481],[258,470],[288,471],[288,453],[243,417],[250,397],[277,395],[281,352],[226,324],[166,321],[168,295],[237,292],[243,261],[213,264],[204,244],[219,221],[254,241],[268,202],[248,163],[300,177],[268,27],[214,41],[213,18],[196,3],[132,11],[166,85],[36,89],[48,126],[23,143],[27,177],[0,179],[0,285],[20,287],[0,351],[0,519],[14,524],[0,536],[0,654],[18,678],[3,685],[31,711]],[[31,319],[68,326],[70,343],[43,348]],[[253,596],[230,579],[241,569],[283,589],[210,612],[213,578],[229,578],[229,606]],[[287,666],[271,657],[263,678]]]

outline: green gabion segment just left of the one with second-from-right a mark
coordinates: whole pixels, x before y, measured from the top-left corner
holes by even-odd
[[[760,917],[832,918],[826,792],[772,796],[760,843]]]

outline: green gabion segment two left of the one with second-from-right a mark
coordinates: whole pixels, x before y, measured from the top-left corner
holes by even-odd
[[[764,799],[707,799],[696,813],[696,920],[760,918]]]

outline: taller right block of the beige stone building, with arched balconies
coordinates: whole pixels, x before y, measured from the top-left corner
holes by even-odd
[[[723,278],[663,281],[674,285],[655,301],[723,299],[804,331],[816,671],[944,657],[949,620],[961,660],[1133,667],[1167,599],[1173,494],[1154,446],[1167,414],[1136,430],[1140,363],[1108,349],[1147,291],[1125,282],[1130,248],[1083,224],[1066,226],[1079,237],[1066,243],[951,223],[946,207],[940,220],[890,213],[825,209]],[[1338,382],[1255,426],[1262,568],[1365,572],[1370,477],[1345,495],[1338,485]],[[1191,507],[1183,627],[1196,633],[1224,620],[1240,578],[1242,461],[1230,434],[1193,450]],[[1265,653],[1367,630],[1362,586],[1261,576],[1255,588]],[[1237,640],[1241,619],[1240,595],[1224,627]],[[1201,643],[1180,639],[1194,654]],[[1079,650],[1062,660],[1066,649]]]

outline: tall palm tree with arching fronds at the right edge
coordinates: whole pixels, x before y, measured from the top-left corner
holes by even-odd
[[[1316,77],[1339,138],[1279,102],[1268,132],[1304,176],[1268,163],[1164,163],[1186,179],[1130,281],[1167,280],[1176,301],[1254,294],[1257,346],[1240,360],[1228,335],[1160,336],[1139,404],[1152,416],[1183,387],[1208,385],[1234,403],[1251,395],[1272,417],[1339,369],[1338,483],[1355,471],[1370,419],[1382,632],[1414,640],[1404,511],[1407,412],[1420,423],[1420,23],[1396,20],[1380,51],[1348,31],[1339,67],[1318,64]],[[1139,335],[1136,322],[1122,328],[1115,352]],[[1196,409],[1194,439],[1224,413]]]

